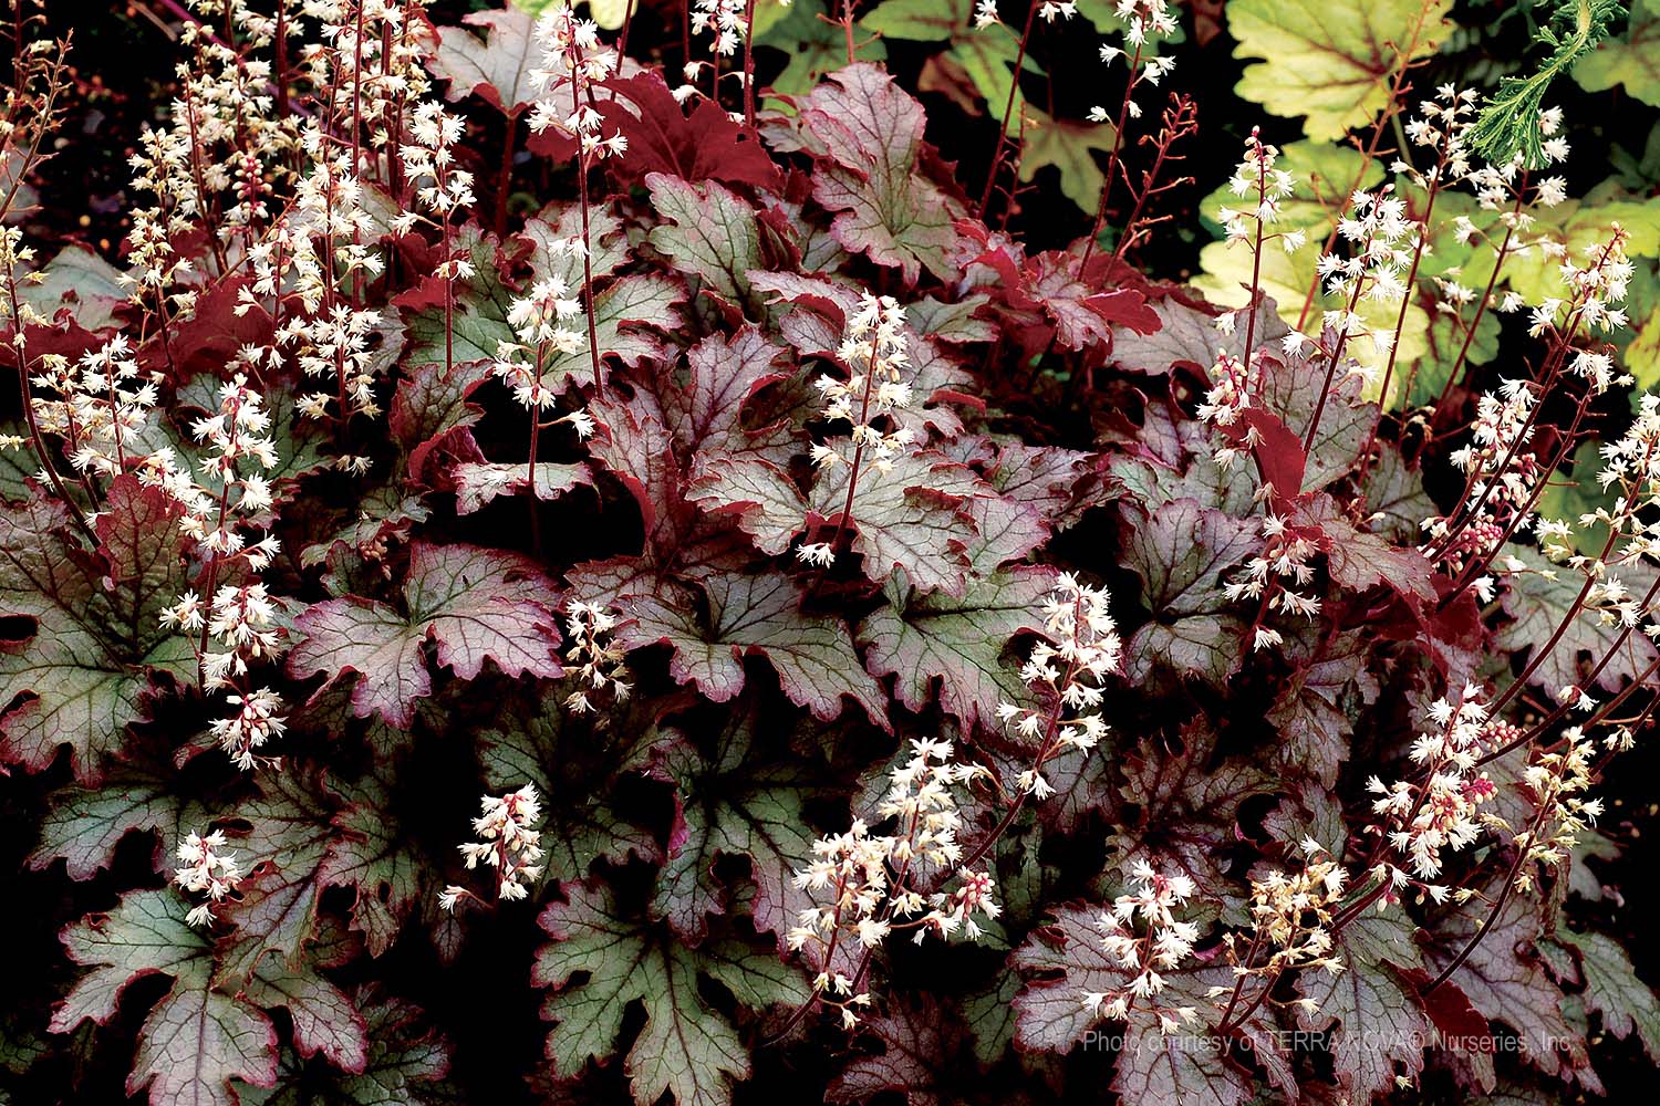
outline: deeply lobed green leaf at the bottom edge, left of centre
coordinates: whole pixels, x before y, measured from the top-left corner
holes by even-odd
[[[646,1023],[627,1050],[624,1071],[639,1106],[667,1091],[679,1106],[727,1106],[732,1083],[750,1074],[737,1028],[699,993],[709,977],[739,1000],[765,1010],[805,1002],[807,980],[770,950],[735,940],[689,948],[664,929],[622,915],[609,887],[569,884],[569,902],[538,919],[553,939],[536,953],[531,982],[554,988],[543,1016],[548,1058],[561,1076],[621,1050],[622,1020],[639,1003]]]

